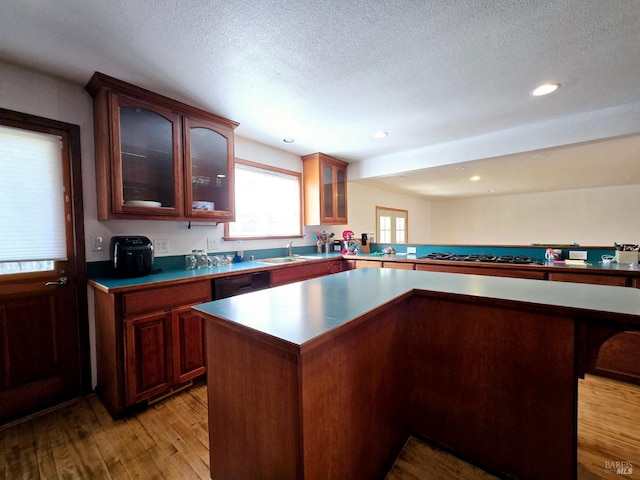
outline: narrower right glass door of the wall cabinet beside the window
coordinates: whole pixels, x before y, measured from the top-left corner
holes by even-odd
[[[195,118],[184,122],[187,215],[232,219],[233,130]]]

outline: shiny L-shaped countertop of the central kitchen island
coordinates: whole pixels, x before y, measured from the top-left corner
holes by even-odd
[[[636,288],[377,268],[349,270],[194,309],[300,347],[414,290],[602,312],[640,325]]]

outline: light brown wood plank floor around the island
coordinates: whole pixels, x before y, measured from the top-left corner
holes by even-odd
[[[0,480],[209,479],[204,385],[113,421],[91,395],[0,427]],[[640,387],[589,376],[579,385],[580,480],[640,479]],[[616,475],[605,462],[631,462]],[[387,480],[494,478],[409,439]]]

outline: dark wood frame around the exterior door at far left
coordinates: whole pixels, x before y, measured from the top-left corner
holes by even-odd
[[[91,353],[89,342],[89,306],[87,300],[87,262],[85,254],[84,209],[82,197],[82,157],[80,154],[80,127],[71,123],[51,120],[36,115],[0,108],[0,124],[8,127],[29,129],[56,129],[67,134],[69,140],[69,172],[71,192],[69,195],[72,215],[74,270],[76,281],[75,299],[78,323],[78,347],[80,363],[80,391],[91,392]]]

